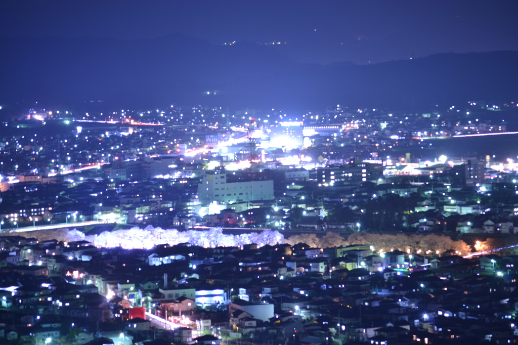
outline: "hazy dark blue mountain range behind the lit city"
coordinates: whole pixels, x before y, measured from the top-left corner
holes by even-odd
[[[518,91],[516,61],[518,52],[498,51],[318,65],[298,63],[275,45],[215,46],[181,34],[132,41],[0,37],[0,104],[305,110],[504,101]]]

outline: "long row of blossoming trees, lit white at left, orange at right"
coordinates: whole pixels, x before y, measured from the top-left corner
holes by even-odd
[[[168,244],[175,246],[180,243],[190,243],[200,247],[241,247],[256,243],[262,247],[275,246],[282,243],[295,245],[306,243],[314,248],[332,248],[342,245],[369,245],[375,251],[401,250],[407,253],[435,254],[447,250],[454,250],[458,255],[471,252],[470,246],[462,240],[453,240],[444,235],[421,234],[371,234],[353,233],[345,239],[339,233],[326,233],[324,236],[316,234],[293,235],[285,238],[278,231],[264,230],[239,235],[224,234],[221,228],[211,228],[206,231],[177,229],[162,229],[148,226],[145,229],[134,227],[126,230],[106,231],[98,235],[84,234],[77,229],[61,229],[57,231],[38,231],[17,233],[25,237],[36,237],[39,240],[56,239],[59,241],[87,240],[98,247],[121,247],[125,249],[151,249],[155,245]]]

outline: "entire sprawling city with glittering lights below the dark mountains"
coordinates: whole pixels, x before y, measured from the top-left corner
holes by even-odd
[[[494,284],[514,282],[518,157],[463,157],[462,145],[515,136],[515,112],[31,109],[4,122],[16,135],[2,141],[1,238],[5,272],[41,286],[6,282],[3,307],[36,302],[42,321],[28,323],[61,326],[35,336],[64,341],[59,320],[74,315],[82,342],[98,339],[92,321],[120,325],[103,330],[120,342],[151,329],[174,342],[262,341],[264,329],[299,342],[315,337],[308,322],[340,324],[324,331],[333,341],[433,342],[444,333],[428,327],[494,309],[471,295],[495,289],[492,322],[511,324]],[[463,306],[423,305],[438,291]]]

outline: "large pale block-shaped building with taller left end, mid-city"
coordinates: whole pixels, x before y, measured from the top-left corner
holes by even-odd
[[[227,182],[226,174],[209,174],[198,184],[200,204],[274,199],[274,181]]]

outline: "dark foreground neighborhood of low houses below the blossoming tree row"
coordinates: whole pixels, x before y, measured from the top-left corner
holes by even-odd
[[[307,243],[128,250],[22,236],[0,242],[0,326],[9,341],[518,339],[518,255],[409,254]]]

